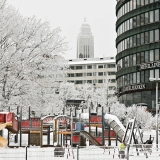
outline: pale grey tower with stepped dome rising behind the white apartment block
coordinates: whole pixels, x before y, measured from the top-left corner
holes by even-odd
[[[80,28],[77,37],[77,58],[93,58],[94,57],[94,37],[92,36],[91,27],[84,23]]]

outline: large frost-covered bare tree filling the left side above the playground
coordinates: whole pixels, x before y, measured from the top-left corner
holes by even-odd
[[[0,13],[0,109],[38,106],[39,93],[52,94],[51,82],[67,68],[55,58],[67,50],[67,43],[59,28],[20,16],[6,0],[0,0]]]

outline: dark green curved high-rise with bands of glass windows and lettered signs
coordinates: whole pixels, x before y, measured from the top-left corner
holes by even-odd
[[[117,0],[116,15],[119,101],[147,103],[154,112],[156,82],[149,78],[160,77],[160,1]]]

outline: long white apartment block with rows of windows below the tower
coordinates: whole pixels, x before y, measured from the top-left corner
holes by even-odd
[[[111,87],[116,87],[115,57],[70,59],[68,63],[67,82],[75,85],[90,83],[100,87],[106,79],[110,79]]]

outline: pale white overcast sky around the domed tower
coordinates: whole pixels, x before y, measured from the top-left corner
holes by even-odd
[[[23,16],[35,15],[60,27],[69,42],[65,58],[76,58],[76,41],[86,18],[94,36],[94,57],[116,55],[116,0],[8,0]]]

